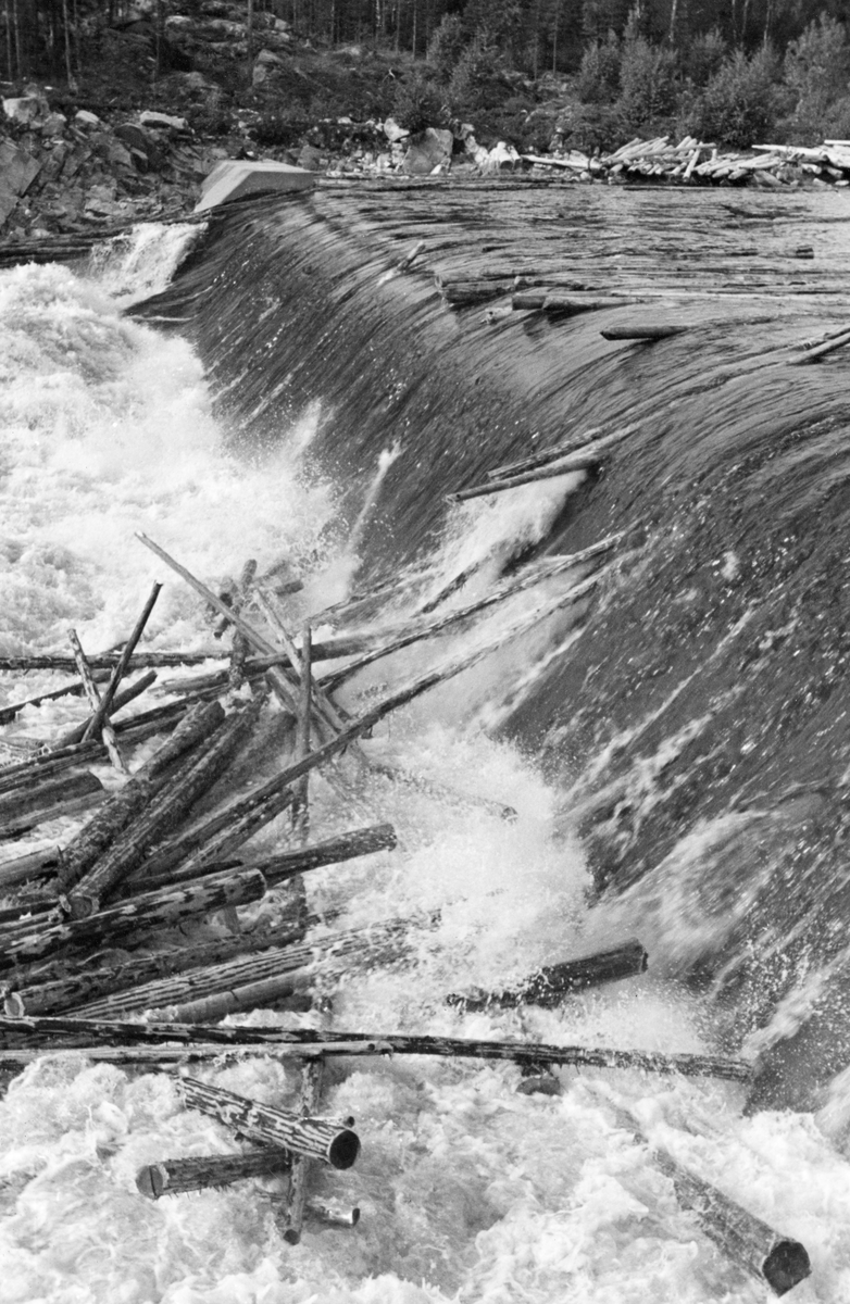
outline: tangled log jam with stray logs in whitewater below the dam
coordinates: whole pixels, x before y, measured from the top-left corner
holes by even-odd
[[[486,486],[459,497],[563,473],[564,458],[566,469],[596,463],[627,433],[592,441],[592,451],[581,451],[578,462],[567,442],[495,468]],[[318,921],[308,911],[302,876],[352,857],[392,850],[398,842],[394,828],[382,823],[310,841],[308,777],[321,767],[349,808],[362,808],[359,782],[364,776],[377,776],[413,786],[439,802],[482,806],[498,818],[515,819],[516,812],[503,802],[456,793],[373,762],[357,739],[369,737],[391,711],[467,669],[503,645],[506,638],[531,629],[541,614],[589,593],[602,574],[593,567],[617,546],[619,535],[571,557],[532,563],[485,597],[446,614],[430,615],[456,591],[456,582],[422,602],[420,617],[408,626],[379,638],[355,631],[315,645],[309,623],[299,639],[286,626],[279,599],[282,592],[292,592],[292,582],[275,583],[269,574],[258,578],[254,563],[248,563],[239,582],[216,593],[150,539],[139,539],[197,592],[218,621],[218,634],[229,629],[229,653],[219,670],[169,682],[169,695],[176,700],[115,719],[151,687],[162,666],[207,660],[137,651],[160,591],[156,584],[120,652],[89,657],[72,630],[72,657],[5,660],[8,669],[47,664],[69,670],[73,666],[78,674],[64,687],[5,707],[7,724],[14,725],[27,704],[65,695],[85,695],[89,715],[52,743],[30,741],[27,746],[20,735],[7,739],[8,763],[0,768],[0,836],[18,840],[57,815],[78,815],[93,806],[96,810],[61,849],[0,862],[0,893],[5,900],[0,906],[0,1073],[20,1072],[40,1055],[57,1052],[126,1069],[176,1073],[185,1107],[228,1128],[233,1150],[164,1157],[146,1164],[137,1176],[139,1193],[159,1200],[256,1178],[280,1178],[283,1185],[270,1189],[269,1198],[282,1236],[291,1244],[300,1240],[305,1221],[353,1227],[360,1217],[356,1208],[340,1208],[314,1191],[319,1167],[348,1168],[360,1154],[353,1119],[322,1112],[327,1056],[396,1054],[507,1061],[523,1073],[524,1090],[546,1089],[546,1082],[555,1081],[553,1068],[566,1064],[750,1081],[748,1063],[711,1055],[220,1022],[239,1011],[282,1008],[293,1001],[295,1008],[304,1009],[313,1000],[314,1008],[326,1012],[323,983],[351,978],[360,965],[398,961],[409,952],[415,930],[421,932],[438,922],[438,914],[388,919],[305,940]],[[501,630],[491,644],[471,656],[424,674],[357,719],[335,702],[335,691],[359,669],[413,642],[468,623],[510,596],[576,567],[591,567],[591,572],[507,631]],[[348,606],[351,612],[362,610],[365,601],[355,599]],[[253,613],[248,619],[252,608],[262,615],[269,634],[253,622]],[[429,618],[422,619],[422,614]],[[319,679],[313,662],[322,657],[348,660]],[[125,677],[134,670],[142,674],[125,685]],[[282,713],[270,702],[272,695],[283,708],[283,730]],[[270,728],[275,722],[276,728]],[[143,763],[136,763],[133,748],[154,735],[159,746]],[[280,746],[282,738],[286,754],[274,760],[267,777],[256,777],[262,768],[261,745],[266,750],[270,741]],[[348,768],[340,765],[343,756]],[[117,786],[111,794],[87,768],[104,762],[116,771]],[[254,776],[253,782],[241,777],[246,771]],[[282,816],[288,820],[284,846],[258,858],[248,844]],[[267,905],[265,922],[254,918],[253,908],[261,900]],[[216,921],[212,935],[209,930],[203,936],[194,931],[198,925]],[[327,925],[330,917],[322,922]],[[589,986],[630,978],[645,968],[644,948],[631,940],[536,970],[510,988],[450,994],[446,1000],[460,1012],[520,1004],[553,1007]],[[271,1107],[189,1076],[193,1065],[216,1068],[229,1058],[253,1055],[284,1059],[300,1068],[296,1110]],[[236,1149],[237,1142],[242,1149]],[[673,1175],[678,1191],[683,1179],[678,1170]],[[694,1194],[694,1183],[699,1179],[686,1184],[688,1208],[703,1198],[703,1187]],[[712,1209],[726,1198],[716,1194]],[[730,1201],[726,1206],[737,1209]],[[730,1245],[738,1244],[740,1227],[756,1226],[750,1215],[739,1213],[742,1217],[729,1222]],[[782,1271],[776,1281],[785,1282],[794,1274],[800,1279],[802,1247],[776,1237],[764,1224],[757,1227],[761,1239],[756,1249],[767,1247],[770,1265],[777,1254],[781,1258]],[[712,1228],[707,1230],[711,1235]],[[761,1278],[777,1288],[764,1270],[765,1256],[750,1257]]]

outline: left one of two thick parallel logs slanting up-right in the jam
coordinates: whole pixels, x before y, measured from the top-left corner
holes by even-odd
[[[209,738],[223,721],[224,708],[218,702],[198,704],[186,712],[167,742],[64,848],[59,867],[63,892],[76,887],[119,833],[141,814],[173,762]]]

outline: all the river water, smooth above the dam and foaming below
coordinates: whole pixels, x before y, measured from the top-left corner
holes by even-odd
[[[378,773],[352,815],[312,778],[312,837],[365,814],[399,846],[305,876],[322,921],[310,940],[409,921],[403,958],[352,958],[329,981],[322,1026],[757,1067],[751,1088],[563,1068],[559,1095],[529,1095],[511,1063],[335,1060],[325,1110],[355,1116],[362,1154],[323,1171],[318,1193],[361,1219],[309,1223],[291,1247],[271,1179],[138,1194],[145,1163],[233,1149],[167,1073],[46,1056],[0,1101],[4,1304],[769,1297],[679,1208],[613,1106],[806,1245],[812,1274],[789,1299],[846,1304],[850,355],[795,361],[846,325],[849,235],[836,192],[329,186],[138,228],[87,267],[0,271],[0,655],[65,653],[69,626],[87,651],[111,648],[158,579],[145,648],[220,656],[202,602],[137,531],[211,585],[286,557],[304,579],[287,618],[313,618],[317,638],[379,636],[538,570],[340,691],[359,715],[494,648],[362,747],[518,818]],[[498,287],[516,275],[634,303],[512,310]],[[447,301],[447,286],[484,282],[489,301]],[[683,331],[600,334],[648,319]],[[608,441],[593,466],[447,501],[588,439]],[[544,565],[609,536],[592,562]],[[3,674],[0,708],[66,679]],[[48,741],[83,712],[74,698],[31,707],[4,737]],[[252,849],[269,853],[287,824]],[[40,825],[26,848],[74,827]],[[634,936],[645,974],[555,1009],[445,1001]],[[207,1074],[299,1099],[272,1058]]]

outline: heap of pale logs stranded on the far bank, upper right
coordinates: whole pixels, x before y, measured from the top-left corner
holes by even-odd
[[[754,145],[754,153],[721,154],[716,145],[686,136],[673,143],[669,136],[652,141],[639,137],[611,154],[525,154],[535,171],[559,170],[583,180],[658,180],[674,185],[756,185],[774,188],[791,181],[817,179],[830,185],[850,185],[850,141],[824,141],[816,149],[791,145]]]

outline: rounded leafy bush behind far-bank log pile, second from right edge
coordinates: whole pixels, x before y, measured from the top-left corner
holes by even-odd
[[[704,141],[747,149],[772,132],[777,117],[776,57],[735,51],[695,100],[687,130]]]

